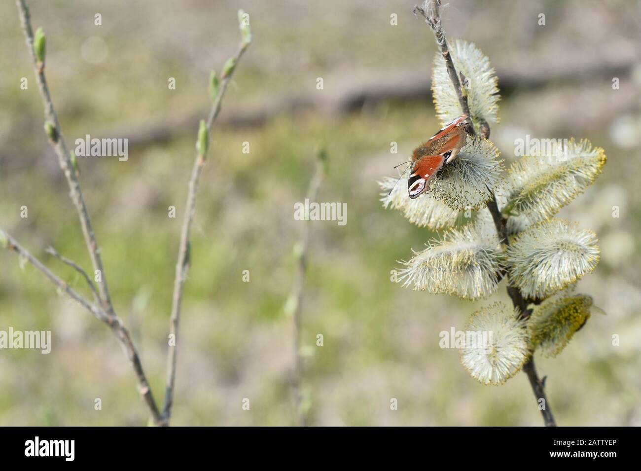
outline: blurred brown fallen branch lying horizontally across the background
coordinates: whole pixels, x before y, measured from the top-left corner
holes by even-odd
[[[630,63],[610,65],[601,61],[562,71],[528,69],[527,72],[523,72],[520,69],[497,69],[497,76],[501,78],[501,94],[506,96],[516,90],[522,92],[551,84],[576,86],[577,81],[627,77],[632,69],[633,64]],[[281,115],[297,115],[312,111],[335,117],[358,112],[363,106],[376,106],[389,101],[416,103],[418,100],[429,101],[430,96],[431,90],[422,78],[422,70],[404,70],[391,72],[387,76],[377,76],[376,81],[344,78],[338,82],[337,87],[326,90],[322,98],[317,94],[288,92],[260,101],[253,100],[251,105],[222,112],[217,123],[219,126],[231,128],[252,128],[264,126],[269,120]],[[604,110],[601,119],[608,122],[608,119],[636,107],[635,103],[630,102],[628,108],[613,107]],[[126,136],[129,139],[129,147],[156,144],[191,133],[197,128],[203,113],[206,113],[206,110],[196,113],[172,113],[168,117],[149,117],[143,122],[121,123],[108,129],[97,129],[92,135]],[[576,120],[570,124],[576,126]],[[2,157],[0,155],[0,159]]]

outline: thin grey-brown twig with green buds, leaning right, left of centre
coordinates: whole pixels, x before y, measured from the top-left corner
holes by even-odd
[[[245,53],[249,43],[241,42],[238,51],[234,56],[235,67],[222,79],[221,88],[216,95],[213,103],[212,110],[207,118],[206,126],[209,132],[212,131],[212,126],[221,112],[222,99],[225,95],[229,82],[233,77],[233,72],[236,70],[240,58]],[[167,384],[165,388],[165,404],[163,406],[163,422],[165,425],[169,424],[171,418],[171,407],[174,399],[174,384],[176,382],[176,359],[178,357],[178,326],[180,322],[181,301],[183,299],[183,285],[187,272],[189,270],[189,238],[192,223],[194,221],[194,213],[196,211],[196,195],[198,192],[198,183],[200,180],[201,172],[203,171],[204,157],[200,154],[196,155],[194,167],[192,169],[192,176],[189,179],[187,190],[187,204],[185,204],[185,217],[183,219],[183,227],[180,233],[180,242],[178,245],[178,260],[176,261],[176,275],[174,278],[174,294],[172,298],[171,317],[169,319],[169,335],[173,336],[173,342],[169,343],[169,353],[167,358]]]

